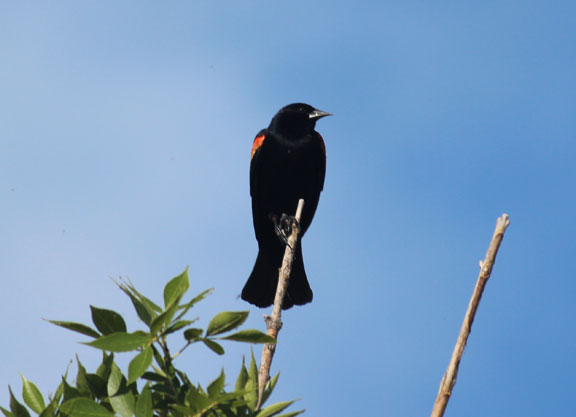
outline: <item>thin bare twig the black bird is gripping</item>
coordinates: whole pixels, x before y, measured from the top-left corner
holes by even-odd
[[[302,209],[304,208],[304,200],[298,200],[298,207],[296,208],[296,222],[300,224],[300,217],[302,216]],[[294,260],[294,251],[298,244],[298,227],[292,227],[290,236],[288,237],[288,244],[284,251],[284,258],[282,259],[282,266],[280,267],[278,276],[278,286],[276,287],[276,295],[274,297],[274,307],[272,308],[271,316],[264,316],[266,321],[266,329],[269,336],[278,339],[278,332],[282,328],[282,303],[284,301],[284,294],[288,288],[288,280],[292,271],[292,261]],[[272,365],[272,358],[276,351],[276,344],[265,344],[262,348],[262,359],[260,360],[260,370],[258,372],[258,406],[262,402],[262,395],[264,388],[270,378],[270,366]]]

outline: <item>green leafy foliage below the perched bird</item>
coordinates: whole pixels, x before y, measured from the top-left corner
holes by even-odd
[[[89,373],[77,358],[75,383],[69,383],[65,375],[48,402],[33,382],[22,377],[25,405],[10,389],[9,409],[0,407],[6,417],[31,417],[29,410],[39,417],[292,417],[303,412],[281,414],[293,401],[264,408],[257,406],[258,369],[253,353],[248,367],[242,361],[233,391],[224,389],[224,371],[204,388],[199,383],[192,383],[185,372],[174,366],[174,359],[193,343],[202,342],[223,355],[224,348],[217,340],[275,342],[258,330],[236,330],[246,321],[247,311],[219,313],[206,330],[192,327],[195,320],[185,319],[186,315],[212,290],[183,302],[190,286],[188,269],[166,284],[164,308],[138,292],[130,282],[121,281],[117,285],[130,298],[146,328],[129,332],[120,314],[94,306],[90,308],[95,328],[69,321],[50,321],[91,337],[93,340],[85,344],[102,351],[102,362],[94,373]],[[171,354],[166,336],[175,332],[182,333],[184,345]],[[114,360],[117,352],[134,354],[127,374]],[[262,404],[270,397],[277,381],[278,375],[267,383]]]

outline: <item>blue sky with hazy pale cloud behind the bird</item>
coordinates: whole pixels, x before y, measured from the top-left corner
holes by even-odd
[[[314,302],[284,316],[275,399],[306,415],[430,413],[496,218],[511,226],[446,415],[573,416],[573,2],[23,1],[0,5],[0,404],[78,353],[42,317],[131,317],[190,267],[199,306],[256,257],[254,135],[283,105],[318,123],[327,176],[303,242]],[[572,190],[572,191],[571,191]],[[201,347],[180,366],[235,376]],[[256,349],[259,355],[260,349]]]

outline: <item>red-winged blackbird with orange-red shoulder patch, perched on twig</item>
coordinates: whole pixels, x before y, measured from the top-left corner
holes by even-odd
[[[326,172],[324,140],[314,127],[318,119],[329,115],[308,104],[289,104],[280,109],[270,126],[254,139],[250,195],[258,258],[242,290],[242,299],[258,307],[274,303],[285,236],[300,198],[304,199],[300,237],[304,236],[314,217]],[[304,271],[299,242],[282,308],[286,310],[294,304],[310,301],[312,290]]]

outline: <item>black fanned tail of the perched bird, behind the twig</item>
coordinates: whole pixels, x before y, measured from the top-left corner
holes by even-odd
[[[268,307],[274,304],[276,286],[278,285],[278,269],[282,264],[284,248],[278,246],[274,249],[260,248],[254,269],[242,290],[242,299],[258,307]],[[288,290],[284,296],[282,309],[287,310],[294,304],[302,305],[312,301],[312,289],[308,284],[302,247],[300,242],[296,247],[292,272],[288,282]]]

